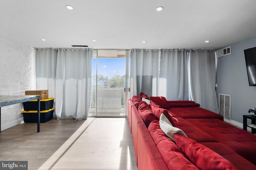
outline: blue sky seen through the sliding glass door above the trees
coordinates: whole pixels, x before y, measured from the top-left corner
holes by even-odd
[[[92,75],[96,74],[96,59],[92,59]],[[124,75],[125,59],[98,59],[98,75]]]

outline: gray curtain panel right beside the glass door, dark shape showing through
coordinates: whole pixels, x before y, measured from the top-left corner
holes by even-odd
[[[130,53],[130,97],[140,92],[158,96],[160,50],[132,49]]]

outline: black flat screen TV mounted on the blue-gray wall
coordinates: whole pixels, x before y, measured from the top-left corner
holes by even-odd
[[[256,86],[256,47],[244,50],[249,86]]]

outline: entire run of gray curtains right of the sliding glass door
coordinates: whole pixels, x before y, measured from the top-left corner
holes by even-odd
[[[218,113],[214,52],[212,49],[133,49],[130,97],[143,92],[167,100],[193,100],[202,108]]]

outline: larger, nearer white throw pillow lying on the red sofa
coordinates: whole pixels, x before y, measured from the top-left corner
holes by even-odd
[[[167,117],[163,113],[160,115],[159,125],[162,131],[164,131],[164,133],[174,142],[175,142],[174,135],[177,133],[187,137],[187,135],[181,129],[179,129],[178,127],[172,126],[172,123],[170,123],[170,121],[167,119]]]

